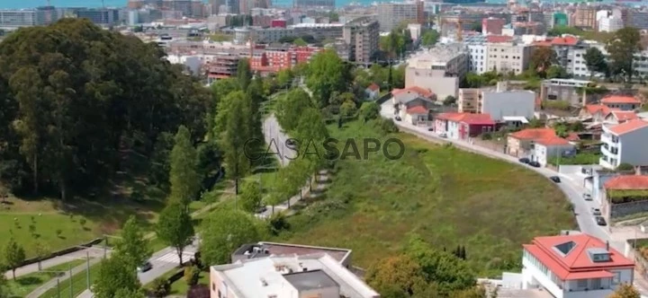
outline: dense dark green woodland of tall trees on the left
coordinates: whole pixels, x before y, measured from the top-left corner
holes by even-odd
[[[155,45],[63,19],[0,43],[0,178],[63,199],[104,186],[133,149],[205,134],[211,94]],[[169,136],[166,136],[169,138]],[[168,148],[166,148],[168,149]]]

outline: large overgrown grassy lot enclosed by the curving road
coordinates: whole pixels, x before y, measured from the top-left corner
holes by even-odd
[[[350,248],[368,267],[417,232],[438,249],[464,245],[475,272],[494,276],[521,266],[522,243],[574,227],[563,193],[518,165],[359,122],[329,130],[338,139],[397,137],[406,152],[339,161],[326,197],[291,217],[278,240]]]

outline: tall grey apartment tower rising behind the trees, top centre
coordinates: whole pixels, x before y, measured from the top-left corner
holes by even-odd
[[[369,65],[378,50],[380,25],[371,17],[362,17],[344,24],[342,38],[348,46],[350,57],[356,63]]]

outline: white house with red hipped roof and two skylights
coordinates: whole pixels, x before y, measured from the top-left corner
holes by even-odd
[[[522,288],[556,298],[605,298],[635,277],[633,260],[589,234],[536,237],[523,248]]]

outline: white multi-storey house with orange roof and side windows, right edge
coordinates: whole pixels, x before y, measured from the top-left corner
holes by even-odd
[[[600,165],[608,169],[616,169],[621,163],[648,165],[648,122],[634,119],[602,128]]]

